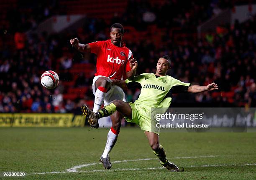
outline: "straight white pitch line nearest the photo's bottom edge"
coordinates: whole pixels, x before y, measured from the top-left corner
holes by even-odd
[[[242,165],[237,164],[221,164],[221,165],[201,165],[201,166],[184,166],[184,168],[204,168],[204,167],[221,167],[221,166],[248,166],[248,165],[256,165],[256,163],[247,163]],[[124,169],[113,169],[113,170],[85,170],[85,171],[77,171],[77,172],[46,172],[46,173],[32,173],[27,175],[41,175],[41,174],[64,174],[64,173],[94,173],[94,172],[112,172],[112,171],[129,171],[129,170],[154,170],[154,169],[164,169],[163,167],[154,167],[154,168],[124,168]]]

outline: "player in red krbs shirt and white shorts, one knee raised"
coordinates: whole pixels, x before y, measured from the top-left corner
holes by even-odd
[[[121,87],[112,84],[112,79],[125,80],[133,78],[136,73],[137,61],[133,59],[131,50],[125,47],[122,42],[124,34],[123,25],[115,23],[110,27],[110,40],[96,41],[89,44],[80,44],[77,38],[70,40],[70,44],[80,52],[94,53],[97,55],[95,77],[92,83],[92,91],[95,95],[93,112],[100,110],[104,105],[109,105],[113,100],[125,101],[125,94]],[[82,107],[82,111],[83,111]],[[87,115],[84,112],[84,115]],[[103,166],[111,168],[109,153],[115,145],[120,132],[120,112],[115,112],[110,116],[112,127],[108,133],[108,140],[105,150],[100,157]],[[88,116],[88,122],[93,128],[99,128],[98,122]]]

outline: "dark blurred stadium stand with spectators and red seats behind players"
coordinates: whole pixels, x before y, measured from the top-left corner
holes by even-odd
[[[69,45],[109,39],[121,23],[123,41],[138,60],[137,74],[155,72],[172,57],[168,75],[192,84],[216,82],[220,91],[175,96],[172,106],[256,107],[256,5],[218,0],[1,0],[0,112],[71,112],[93,106],[96,57]],[[41,73],[54,70],[49,91]],[[127,101],[138,97],[128,90]]]

